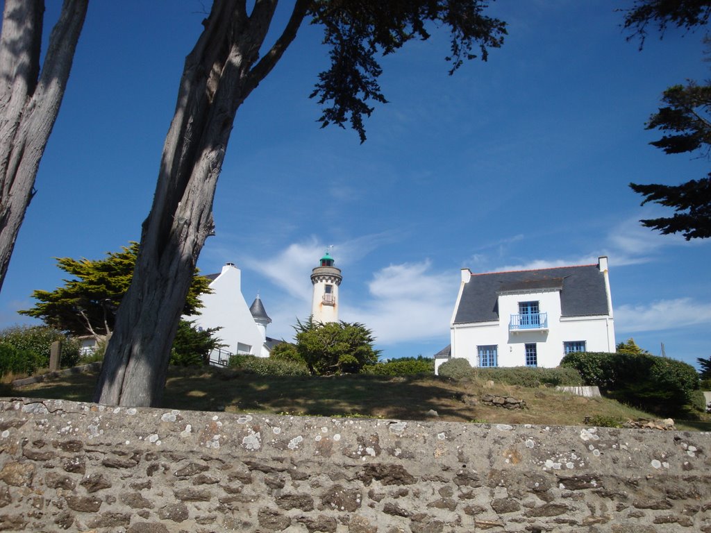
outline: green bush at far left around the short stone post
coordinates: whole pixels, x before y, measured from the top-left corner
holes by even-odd
[[[0,331],[0,343],[11,345],[18,350],[14,355],[6,352],[8,354],[6,357],[12,359],[24,354],[28,357],[26,368],[30,374],[36,372],[38,368],[49,366],[50,350],[55,340],[62,341],[60,366],[63,368],[75,366],[79,361],[80,342],[73,338],[66,338],[59,330],[46,325],[14,325]]]

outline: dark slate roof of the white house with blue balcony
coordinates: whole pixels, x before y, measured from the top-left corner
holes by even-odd
[[[607,315],[604,274],[597,264],[554,269],[472,274],[459,301],[455,324],[498,321],[498,296],[560,290],[561,316]]]

